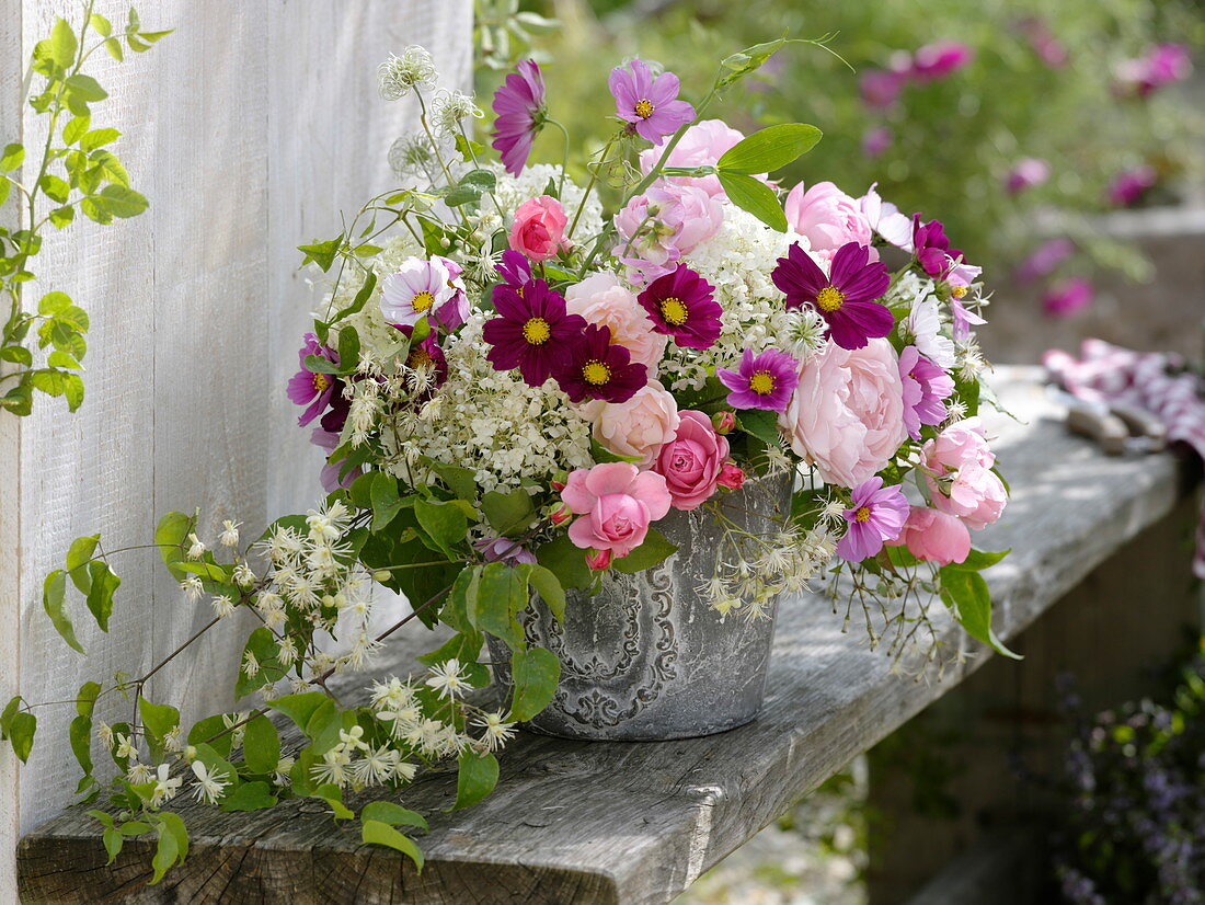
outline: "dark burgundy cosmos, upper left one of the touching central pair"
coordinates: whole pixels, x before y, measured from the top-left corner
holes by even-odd
[[[552,375],[557,360],[578,341],[586,318],[570,315],[565,299],[542,280],[522,290],[494,287],[498,317],[486,322],[481,335],[490,346],[487,358],[495,371],[518,368],[523,380],[539,387]]]

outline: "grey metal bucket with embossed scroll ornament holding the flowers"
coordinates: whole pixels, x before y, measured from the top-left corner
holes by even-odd
[[[748,482],[725,494],[724,516],[750,531],[790,511],[789,477]],[[758,515],[763,513],[763,515]],[[762,710],[774,642],[766,618],[727,618],[699,587],[715,574],[722,529],[706,509],[671,511],[657,523],[677,552],[639,575],[609,570],[593,595],[570,592],[562,625],[542,604],[521,613],[528,641],[562,663],[552,704],[525,727],[547,735],[659,741],[711,735]],[[494,677],[510,686],[510,652],[489,639]]]

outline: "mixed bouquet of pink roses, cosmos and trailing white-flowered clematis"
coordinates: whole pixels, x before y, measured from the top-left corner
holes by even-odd
[[[313,795],[343,818],[343,789],[398,787],[457,758],[457,806],[480,800],[498,778],[493,752],[557,697],[557,625],[641,576],[670,581],[652,599],[698,606],[695,625],[760,631],[763,671],[776,599],[812,587],[847,619],[858,601],[871,642],[898,656],[919,645],[922,663],[941,662],[935,599],[1006,653],[978,574],[1003,554],[971,546],[1006,499],[977,417],[980,271],[940,222],[874,187],[778,186],[772,174],[819,140],[815,127],[743,136],[705,118],[783,43],[725,59],[693,104],[671,72],[616,67],[617,127],[584,186],[529,163],[535,136],[557,128],[535,63],[494,96],[498,160],[471,128],[483,111],[434,90],[425,51],[381,66],[383,96],[413,94],[422,110],[419,134],[390,152],[404,186],[302,247],[333,280],[288,392],[328,452],[329,495],[246,548],[228,522],[211,550],[182,513],[155,535],[186,593],[212,604],[211,625],[255,616],[235,690],[263,704],[186,730],[143,695],[166,664],[81,689],[81,791],[102,787],[95,735],[119,769],[118,815],[143,815],[136,824],[165,847],[158,875],[187,850],[182,824],[161,816],[186,778],[225,810]],[[613,213],[600,192],[618,198]],[[69,642],[67,576],[94,613],[98,594],[106,619],[112,609],[98,542],[80,539],[47,578]],[[689,581],[671,575],[680,560],[694,564]],[[384,631],[374,584],[411,606]],[[380,681],[359,706],[329,692],[416,618],[446,627],[427,675]],[[470,694],[490,681],[486,640],[510,690],[496,709]],[[629,659],[631,641],[616,642]],[[686,653],[663,674],[687,669]],[[94,724],[112,690],[137,703],[134,717]],[[296,724],[299,751],[282,753],[270,711]],[[31,721],[13,699],[0,729],[18,753]],[[116,857],[123,830],[94,815]],[[377,801],[359,819],[364,841],[421,863],[396,829],[421,816]]]

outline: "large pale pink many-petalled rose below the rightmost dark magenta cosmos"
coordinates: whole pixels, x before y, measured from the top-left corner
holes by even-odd
[[[857,487],[874,476],[907,437],[892,343],[871,340],[845,349],[827,342],[799,366],[799,386],[778,427],[828,483]]]

